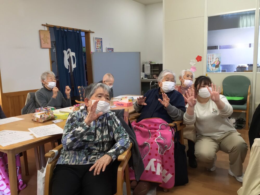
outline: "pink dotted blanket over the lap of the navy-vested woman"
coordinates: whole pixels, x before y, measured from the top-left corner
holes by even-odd
[[[140,180],[160,183],[171,189],[174,186],[174,130],[160,118],[132,122],[145,170]],[[134,171],[129,169],[130,180],[135,180]]]

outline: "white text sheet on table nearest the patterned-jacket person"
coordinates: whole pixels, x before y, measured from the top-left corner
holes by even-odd
[[[63,129],[55,124],[29,128],[29,131],[32,132],[36,138],[63,133]]]

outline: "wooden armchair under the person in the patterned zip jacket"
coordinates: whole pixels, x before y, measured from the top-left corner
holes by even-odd
[[[128,109],[125,109],[124,112],[124,120],[128,123],[129,113]],[[117,160],[121,163],[118,166],[117,171],[117,191],[115,195],[122,195],[123,194],[123,183],[126,182],[126,188],[127,188],[127,195],[131,195],[131,188],[130,188],[130,179],[129,179],[129,170],[128,170],[128,161],[132,155],[131,152],[132,143],[130,143],[130,147],[123,152],[121,155],[118,156]],[[59,151],[59,155],[62,149],[62,144],[54,148],[54,150]],[[53,171],[56,166],[56,163],[59,159],[59,155],[53,159],[51,162],[49,162],[46,165],[46,175],[45,175],[45,187],[44,187],[44,194],[45,195],[51,195],[52,194],[52,178],[53,178]],[[48,152],[45,154],[45,157],[52,158],[55,156],[55,152]]]

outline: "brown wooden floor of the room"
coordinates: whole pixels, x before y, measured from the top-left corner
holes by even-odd
[[[238,130],[242,134],[249,146],[248,131]],[[56,143],[57,144],[57,143]],[[185,140],[187,146],[187,141]],[[50,144],[45,145],[45,151],[51,149]],[[28,185],[19,195],[37,194],[37,171],[34,160],[34,150],[27,151],[29,163],[29,176],[24,175],[23,157],[21,157],[23,180]],[[248,150],[245,162],[243,164],[243,172],[248,165],[250,149]],[[188,166],[189,183],[184,186],[177,186],[168,192],[163,192],[162,188],[157,187],[158,195],[191,195],[191,194],[210,194],[210,195],[231,195],[237,194],[237,190],[242,186],[234,177],[228,174],[229,158],[228,154],[219,151],[217,153],[216,171],[209,172],[203,163],[198,162],[197,168]]]

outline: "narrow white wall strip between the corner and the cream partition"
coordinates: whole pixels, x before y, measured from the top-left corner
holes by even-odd
[[[145,6],[146,60],[162,63],[162,3]]]

